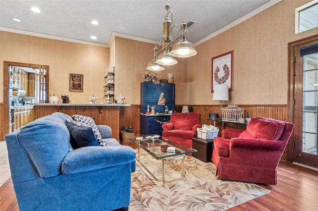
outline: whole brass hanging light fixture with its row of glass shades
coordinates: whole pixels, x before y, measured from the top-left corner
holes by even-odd
[[[182,22],[182,24],[180,26],[181,29],[177,30],[177,32],[182,30],[182,34],[180,34],[179,36],[177,36],[175,39],[172,40],[172,30],[173,30],[174,26],[176,27],[176,24],[172,25],[172,15],[173,14],[172,14],[172,10],[170,10],[169,0],[167,0],[164,8],[166,10],[166,15],[164,17],[163,35],[161,36],[161,38],[162,38],[162,41],[165,45],[162,44],[162,48],[160,49],[159,52],[157,49],[157,51],[155,52],[155,55],[154,55],[154,59],[151,62],[149,62],[148,66],[147,66],[148,70],[153,70],[150,68],[152,68],[153,66],[156,67],[155,64],[173,65],[173,64],[178,63],[178,61],[174,58],[174,56],[175,57],[190,57],[190,56],[197,54],[192,43],[188,42],[187,38],[185,36],[185,34],[187,33],[187,30],[186,30],[187,23],[185,23],[184,21]],[[169,17],[170,13],[171,13],[171,19]],[[160,38],[160,44],[161,44],[161,38]],[[170,53],[169,45],[174,43],[179,38],[180,38],[180,41],[173,46],[172,51]],[[161,53],[161,54],[157,58],[158,53]],[[163,70],[163,69],[157,69],[157,70]]]

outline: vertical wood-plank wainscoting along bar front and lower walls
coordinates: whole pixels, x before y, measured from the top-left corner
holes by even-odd
[[[184,105],[176,105],[178,106]],[[219,105],[188,105],[192,107],[192,111],[198,112],[201,114],[201,124],[214,124],[214,121],[209,120],[209,113],[220,113],[220,106]],[[261,116],[267,118],[273,118],[282,121],[289,121],[288,119],[288,107],[287,105],[238,105],[239,107],[244,108],[244,117],[246,117],[246,111],[249,113],[249,117]],[[95,110],[88,110],[85,106],[72,106],[68,110],[61,109],[61,106],[35,106],[41,107],[42,109],[34,109],[34,119],[37,119],[41,116],[45,116],[51,114],[56,111],[64,112],[69,115],[73,114],[82,114],[86,116],[95,117],[96,124],[107,124],[109,126],[113,126],[113,137],[120,140],[120,130],[124,126],[130,126],[134,130],[136,130],[136,134],[140,134],[140,105],[132,105],[132,106],[122,106],[122,107],[113,107],[113,109],[119,109],[119,122],[118,116],[112,115],[111,110],[102,108],[100,110],[99,107],[96,107]],[[63,107],[63,106],[62,106]],[[69,107],[69,106],[67,106]],[[45,108],[45,109],[44,109]],[[0,104],[0,117],[3,119],[3,104]],[[114,113],[118,113],[116,110]],[[3,121],[1,121],[1,127],[3,128]],[[118,127],[119,125],[119,127]],[[114,128],[116,126],[117,128]],[[217,122],[216,126],[220,128],[219,136],[222,134],[222,123]],[[224,128],[232,128],[232,129],[245,129],[244,125],[235,124],[235,123],[226,123]],[[4,140],[4,135],[1,134],[1,137]],[[292,145],[292,142],[289,141],[288,145]],[[287,160],[287,151],[292,149],[287,147],[283,156],[282,160]]]

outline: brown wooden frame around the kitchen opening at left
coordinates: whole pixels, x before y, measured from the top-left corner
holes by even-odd
[[[21,63],[21,62],[13,62],[13,61],[3,61],[3,135],[9,133],[9,83],[10,83],[10,74],[9,74],[9,66],[21,66],[21,67],[31,67],[31,68],[46,68],[46,76],[45,76],[45,101],[49,102],[49,66],[41,65],[41,64],[29,64],[29,63]]]

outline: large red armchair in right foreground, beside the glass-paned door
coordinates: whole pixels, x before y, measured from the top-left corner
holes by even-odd
[[[294,124],[253,117],[246,130],[224,129],[215,137],[212,161],[220,179],[277,184],[277,165]]]

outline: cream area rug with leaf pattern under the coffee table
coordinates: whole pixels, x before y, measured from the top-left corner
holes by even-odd
[[[162,161],[143,153],[142,163],[158,178],[162,178]],[[177,166],[180,160],[173,161]],[[132,174],[130,211],[224,211],[269,193],[247,182],[220,180],[215,177],[215,165],[192,156],[185,156],[185,180],[157,182],[138,162]],[[166,179],[180,174],[166,165]]]

